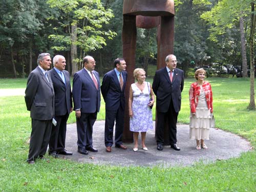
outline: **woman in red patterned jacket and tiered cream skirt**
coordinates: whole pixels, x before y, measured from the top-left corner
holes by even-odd
[[[189,89],[190,123],[189,137],[197,140],[197,150],[207,149],[204,140],[209,140],[210,119],[212,116],[212,91],[210,83],[204,81],[206,72],[200,68],[195,72],[197,82]]]

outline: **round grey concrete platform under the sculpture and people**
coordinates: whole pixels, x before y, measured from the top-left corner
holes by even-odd
[[[155,140],[155,122],[153,124],[154,129],[147,132],[146,135],[147,152],[141,148],[134,152],[133,143],[124,143],[127,150],[112,146],[112,152],[107,153],[104,145],[104,121],[96,121],[93,130],[93,146],[98,149],[98,152],[89,152],[89,155],[82,155],[77,152],[76,124],[68,124],[66,149],[73,152],[73,155],[60,156],[76,162],[99,165],[168,167],[187,166],[199,161],[210,163],[216,160],[239,157],[241,153],[247,152],[251,148],[250,143],[242,137],[220,129],[211,129],[210,140],[205,141],[209,147],[208,150],[196,150],[196,141],[189,139],[189,126],[180,124],[177,125],[177,139],[181,151],[175,151],[170,146],[164,146],[163,151],[158,151]]]

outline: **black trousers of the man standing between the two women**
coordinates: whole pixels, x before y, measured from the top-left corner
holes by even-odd
[[[166,113],[157,111],[157,128],[156,128],[156,138],[157,144],[164,143],[164,125],[168,125],[168,133],[170,145],[177,143],[177,119],[178,114],[176,113],[173,105],[173,101],[170,101],[169,109]]]

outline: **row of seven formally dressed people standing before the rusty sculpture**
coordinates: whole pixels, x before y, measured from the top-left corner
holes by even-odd
[[[138,151],[138,137],[141,132],[141,148],[145,145],[146,132],[153,129],[152,106],[156,95],[156,140],[157,150],[163,150],[164,129],[168,128],[170,147],[180,151],[177,145],[177,118],[181,107],[181,92],[184,86],[184,72],[178,68],[175,55],[167,55],[166,67],[156,71],[153,84],[145,81],[145,71],[134,70],[137,82],[131,84],[129,93],[130,131],[134,133],[133,151]],[[66,59],[61,55],[53,58],[51,67],[49,53],[38,55],[38,66],[28,77],[25,91],[27,110],[30,111],[32,131],[30,137],[28,163],[44,159],[49,144],[49,155],[57,158],[72,155],[65,149],[67,120],[74,110],[77,125],[78,153],[88,155],[98,152],[93,146],[93,125],[100,109],[100,93],[105,101],[105,151],[111,147],[126,150],[122,142],[124,128],[124,90],[127,81],[126,62],[123,58],[114,60],[114,69],[103,76],[100,86],[99,73],[95,71],[96,62],[92,56],[83,58],[83,69],[74,74],[71,92],[70,74],[65,70]],[[49,71],[48,71],[49,70]],[[197,150],[207,148],[209,124],[212,114],[212,91],[210,83],[204,81],[205,71],[195,73],[197,82],[191,84],[190,138],[197,141]],[[154,95],[155,94],[155,95]],[[115,142],[113,132],[115,124]]]

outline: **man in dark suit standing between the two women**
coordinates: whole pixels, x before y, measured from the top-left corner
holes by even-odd
[[[180,151],[177,145],[177,118],[181,106],[181,92],[184,86],[184,72],[178,68],[175,55],[167,55],[166,67],[156,71],[152,88],[157,96],[157,149],[163,150],[164,123],[167,121],[170,147]]]

